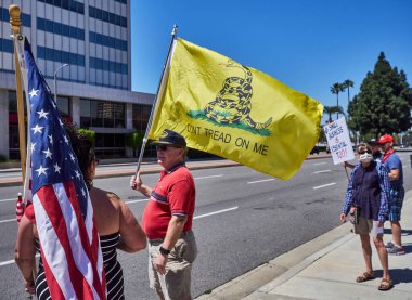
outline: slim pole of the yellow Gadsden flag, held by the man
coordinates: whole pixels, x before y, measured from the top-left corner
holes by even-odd
[[[167,66],[169,64],[169,61],[170,61],[170,54],[171,54],[170,52],[171,52],[171,48],[173,45],[173,41],[177,38],[177,34],[178,34],[178,26],[175,25],[173,29],[171,30],[171,40],[170,40],[170,44],[169,44],[169,50],[167,51],[166,62],[165,62],[165,65],[163,66],[160,81],[158,82],[156,99],[155,99],[155,101],[153,103],[151,115],[149,117],[146,132],[144,133],[143,142],[142,142],[142,147],[141,147],[140,155],[139,155],[139,160],[138,160],[138,166],[136,167],[136,173],[138,173],[139,170],[140,170],[140,165],[141,165],[142,159],[143,159],[144,148],[146,147],[146,143],[147,143],[147,135],[149,135],[149,132],[151,131],[151,128],[152,128],[153,115],[154,115],[154,113],[155,113],[155,110],[157,108],[156,105],[157,105],[159,95],[163,94],[163,89],[164,89],[164,87],[166,84],[166,78],[167,77],[165,78],[165,73],[166,73],[166,68],[167,68]]]

